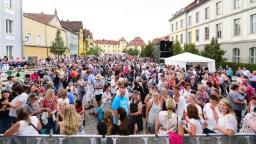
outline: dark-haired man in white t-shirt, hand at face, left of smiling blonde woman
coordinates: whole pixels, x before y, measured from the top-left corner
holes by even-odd
[[[207,127],[204,129],[205,134],[218,133],[218,130],[212,131],[212,129],[218,126],[218,122],[215,120],[213,111],[216,111],[217,115],[220,115],[218,109],[218,97],[216,95],[209,95],[210,102],[205,104],[203,109],[203,114],[205,122],[207,122]]]

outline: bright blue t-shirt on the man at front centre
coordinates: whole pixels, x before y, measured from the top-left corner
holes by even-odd
[[[129,106],[128,106],[128,100],[127,98],[124,97],[120,97],[119,95],[117,95],[112,102],[112,109],[113,111],[116,111],[119,107],[123,107],[127,113],[127,116],[129,115]],[[118,124],[118,122],[116,122],[116,118],[114,115],[114,123]]]

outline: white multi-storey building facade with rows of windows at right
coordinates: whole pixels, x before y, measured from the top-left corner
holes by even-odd
[[[227,61],[256,63],[256,0],[196,0],[186,13],[186,43],[202,50],[217,37]]]

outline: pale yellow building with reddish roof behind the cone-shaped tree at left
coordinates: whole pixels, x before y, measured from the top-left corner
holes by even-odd
[[[49,49],[50,45],[52,45],[51,42],[56,37],[57,29],[60,29],[61,37],[65,45],[67,45],[66,34],[61,28],[58,16],[50,15],[50,17],[48,15],[49,19],[40,19],[38,15],[44,17],[44,13],[24,13],[23,15],[23,37],[28,36],[28,41],[24,42],[24,56],[25,58],[32,56],[36,62],[42,58],[47,58],[47,56],[52,58],[58,56],[50,52]],[[66,56],[68,56],[68,50],[60,58],[65,58]]]

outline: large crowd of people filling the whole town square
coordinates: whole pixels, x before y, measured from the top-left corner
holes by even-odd
[[[10,60],[13,67],[23,63]],[[84,113],[97,116],[102,135],[169,134],[179,141],[184,133],[256,132],[256,70],[239,68],[234,82],[228,65],[209,72],[129,55],[46,58],[41,64],[52,67],[26,74],[24,81],[7,77],[0,99],[4,137],[85,134]]]

